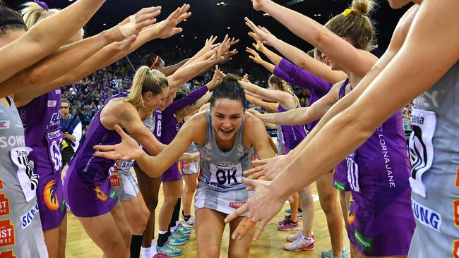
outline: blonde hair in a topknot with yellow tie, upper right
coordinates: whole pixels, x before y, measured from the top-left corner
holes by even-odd
[[[378,47],[374,37],[374,23],[369,13],[376,3],[373,0],[353,0],[349,13],[340,13],[328,20],[325,27],[340,37],[347,37],[357,49],[371,51]]]

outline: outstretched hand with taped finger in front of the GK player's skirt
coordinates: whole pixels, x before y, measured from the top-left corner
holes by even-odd
[[[249,187],[255,188],[254,195],[239,209],[229,214],[225,222],[228,223],[236,219],[242,214],[249,212],[237,226],[237,229],[232,234],[232,239],[242,239],[246,233],[260,221],[258,228],[254,235],[254,240],[260,238],[266,224],[278,214],[280,208],[285,203],[285,199],[277,195],[277,190],[272,189],[270,182],[265,180],[251,180],[242,178],[242,181]]]

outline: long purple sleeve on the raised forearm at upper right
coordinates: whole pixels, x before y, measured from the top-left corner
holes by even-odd
[[[322,78],[309,73],[307,70],[295,66],[287,59],[282,59],[280,61],[278,70],[282,70],[281,73],[284,73],[290,78],[290,80],[287,80],[287,82],[290,82],[298,87],[306,89],[314,88],[314,90],[318,90],[324,93],[330,91],[331,87],[333,87],[330,82],[327,82],[326,80],[323,80]],[[274,71],[276,72],[276,69]],[[280,77],[280,75],[278,76]]]

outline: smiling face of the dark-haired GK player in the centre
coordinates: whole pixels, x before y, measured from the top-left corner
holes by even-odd
[[[232,140],[241,127],[244,106],[240,100],[217,99],[210,115],[217,139]]]

